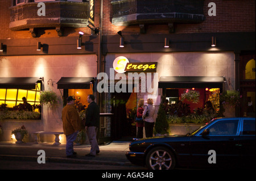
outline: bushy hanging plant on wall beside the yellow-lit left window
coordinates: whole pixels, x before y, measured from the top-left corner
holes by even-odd
[[[42,91],[40,92],[40,102],[47,104],[49,107],[57,105],[57,94],[53,91]]]

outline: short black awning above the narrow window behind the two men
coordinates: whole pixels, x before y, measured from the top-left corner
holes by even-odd
[[[93,77],[61,77],[57,89],[90,89],[93,82]]]

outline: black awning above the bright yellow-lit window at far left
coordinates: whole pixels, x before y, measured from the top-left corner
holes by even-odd
[[[39,77],[0,77],[0,89],[35,89]]]

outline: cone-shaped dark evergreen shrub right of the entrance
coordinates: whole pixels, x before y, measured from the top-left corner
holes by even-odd
[[[169,133],[169,124],[166,117],[166,112],[164,111],[163,104],[160,104],[158,110],[158,116],[155,121],[155,133],[156,136],[166,135]]]

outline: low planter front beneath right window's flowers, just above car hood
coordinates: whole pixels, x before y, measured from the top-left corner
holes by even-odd
[[[196,123],[169,124],[170,135],[192,133],[196,129],[202,127],[204,124],[205,123],[203,123],[203,124],[196,124]]]

